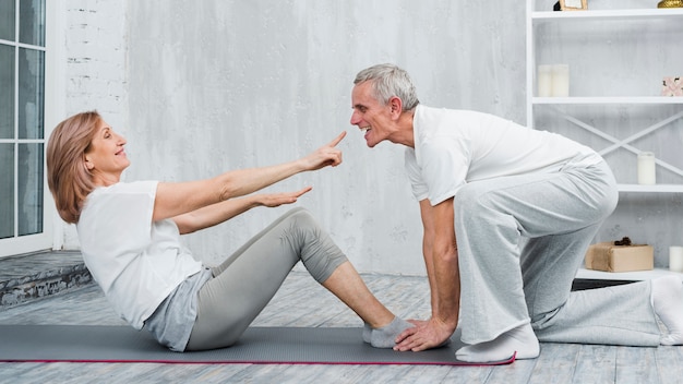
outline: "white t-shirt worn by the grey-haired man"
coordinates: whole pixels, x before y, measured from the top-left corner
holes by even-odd
[[[493,115],[419,105],[412,120],[415,149],[405,165],[418,201],[436,205],[468,182],[587,167],[602,160],[591,148]]]

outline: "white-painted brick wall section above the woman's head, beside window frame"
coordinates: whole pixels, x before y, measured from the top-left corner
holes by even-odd
[[[56,1],[56,20],[48,22],[48,32],[58,35],[56,60],[58,92],[57,122],[74,113],[97,109],[115,127],[129,124],[128,98],[128,7],[119,1]],[[52,25],[57,29],[52,29]],[[49,70],[49,69],[48,69]],[[61,76],[61,79],[59,79]],[[48,128],[51,129],[51,128]],[[59,220],[62,247],[76,249],[74,226]],[[56,240],[56,243],[59,241]]]

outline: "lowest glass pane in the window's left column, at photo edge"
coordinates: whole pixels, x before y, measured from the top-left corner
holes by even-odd
[[[14,144],[0,144],[0,239],[14,237]]]

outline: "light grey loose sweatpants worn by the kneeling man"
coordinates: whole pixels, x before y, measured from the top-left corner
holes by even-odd
[[[659,345],[649,281],[571,292],[618,194],[604,163],[463,187],[454,199],[463,341],[530,322],[541,341]]]

